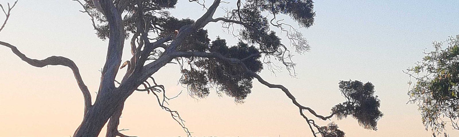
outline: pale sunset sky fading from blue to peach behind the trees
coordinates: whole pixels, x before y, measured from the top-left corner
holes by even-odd
[[[6,2],[14,1],[0,0],[1,4]],[[222,6],[235,7],[235,2],[229,2]],[[284,85],[302,105],[322,115],[345,101],[338,89],[340,80],[369,81],[375,85],[384,116],[378,121],[378,131],[363,129],[352,117],[332,118],[348,137],[429,137],[431,132],[425,130],[417,106],[407,104],[410,79],[402,70],[421,60],[423,50],[432,49],[431,42],[459,34],[457,5],[457,0],[315,0],[315,24],[300,29],[311,51],[293,58],[297,78],[285,69],[275,74],[264,70],[261,76]],[[0,41],[16,46],[29,58],[54,55],[72,59],[94,100],[107,42],[95,36],[89,17],[79,10],[82,8],[72,0],[19,0],[0,32]],[[204,12],[188,0],[179,0],[171,11],[176,17],[190,19]],[[214,17],[222,15],[219,9]],[[295,23],[283,17],[286,23]],[[229,44],[237,42],[218,23],[206,29],[211,39],[220,36]],[[124,53],[123,60],[128,60],[129,49]],[[0,47],[0,55],[0,137],[73,135],[84,106],[70,69],[32,67],[7,47]],[[178,66],[167,65],[153,76],[165,85],[168,95],[186,93],[178,84]],[[257,81],[253,84],[252,94],[243,104],[213,92],[199,100],[181,94],[169,101],[169,107],[179,111],[196,137],[312,137],[297,107],[281,90]],[[320,125],[330,122],[316,121]],[[138,137],[186,136],[155,97],[145,92],[134,92],[128,98],[119,129],[129,129],[123,133]],[[459,131],[447,130],[451,137],[459,136]],[[104,133],[105,128],[100,137]]]

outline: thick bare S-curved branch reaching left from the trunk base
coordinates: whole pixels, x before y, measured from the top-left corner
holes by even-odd
[[[6,46],[11,48],[14,54],[16,54],[19,58],[23,61],[27,62],[28,64],[35,66],[35,67],[45,67],[47,65],[62,65],[72,69],[73,75],[77,80],[78,87],[80,88],[81,92],[83,92],[84,97],[84,115],[88,112],[88,109],[92,106],[91,105],[91,94],[88,90],[88,87],[84,84],[83,79],[81,78],[80,71],[78,70],[77,65],[70,59],[60,56],[51,56],[45,58],[43,60],[31,59],[28,58],[26,55],[21,53],[17,48],[9,43],[1,42],[0,45]]]

